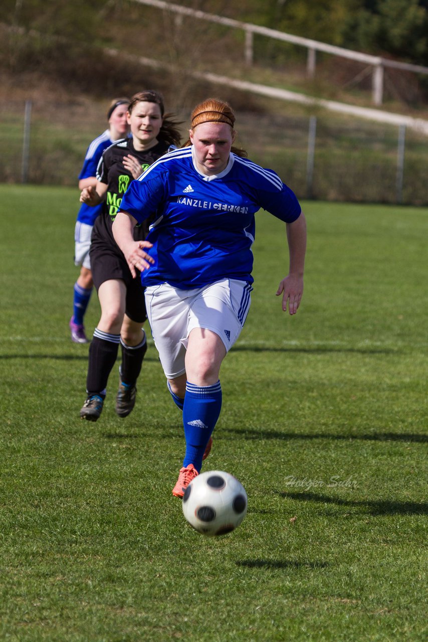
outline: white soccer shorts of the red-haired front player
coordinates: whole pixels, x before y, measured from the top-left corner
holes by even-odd
[[[189,334],[196,327],[218,334],[226,352],[237,340],[250,309],[252,285],[224,279],[195,290],[167,283],[146,288],[147,317],[168,379],[184,374]]]

